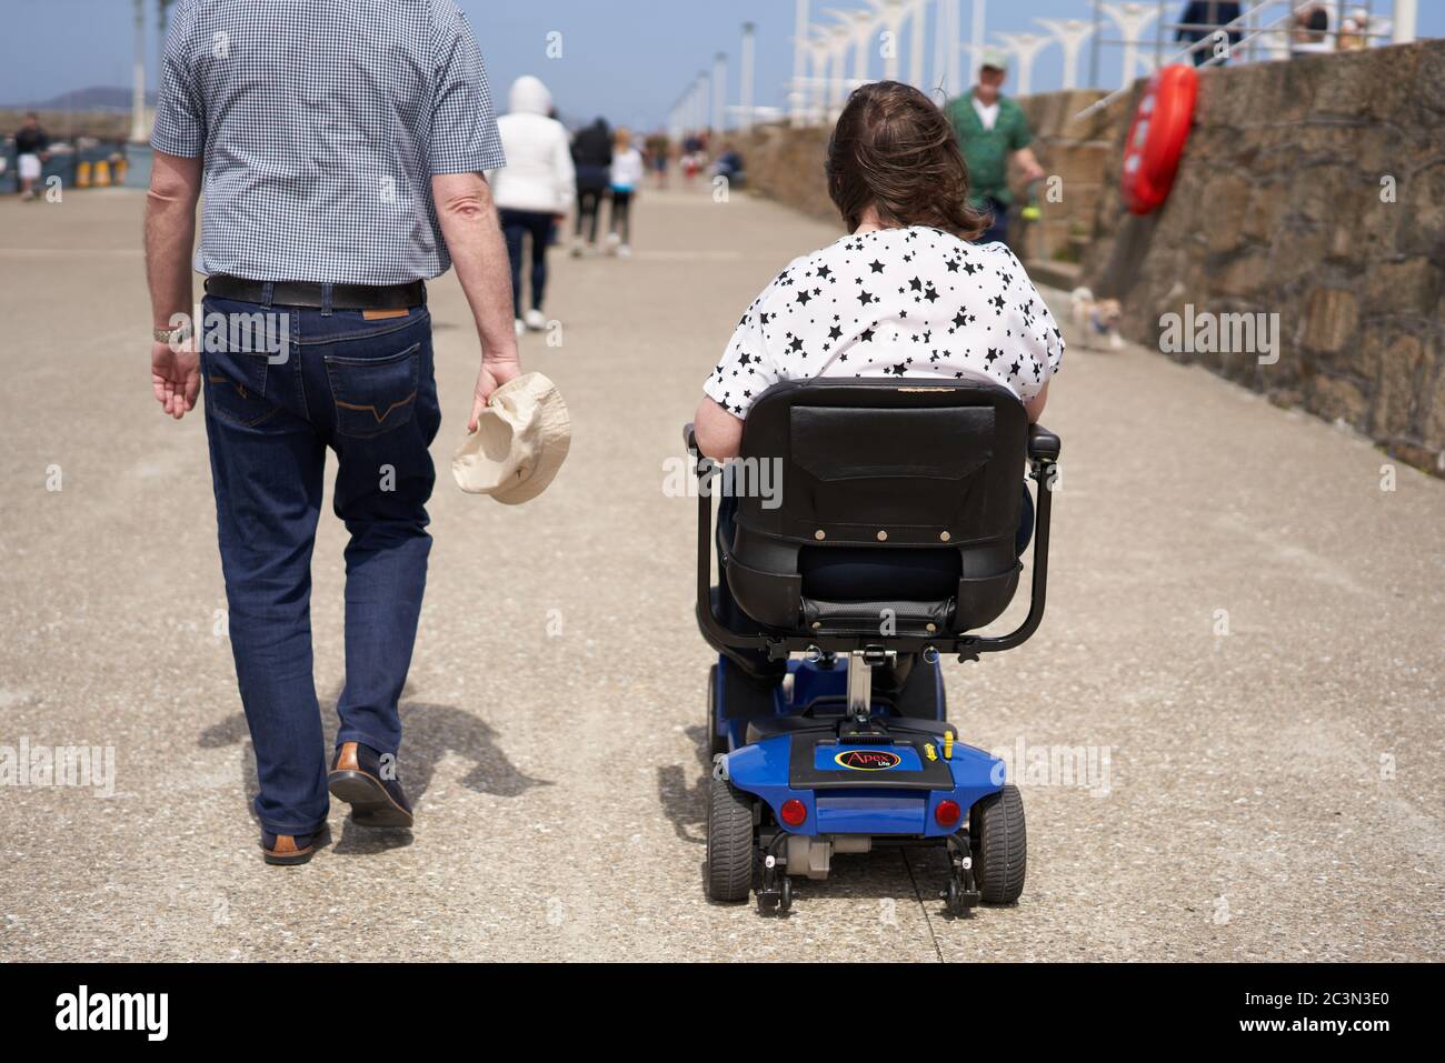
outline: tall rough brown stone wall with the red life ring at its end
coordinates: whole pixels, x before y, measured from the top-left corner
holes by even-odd
[[[1207,71],[1169,202],[1104,196],[1084,282],[1150,347],[1188,306],[1279,315],[1273,364],[1170,357],[1445,472],[1445,42]]]

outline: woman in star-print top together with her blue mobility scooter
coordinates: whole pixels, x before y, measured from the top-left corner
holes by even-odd
[[[935,661],[936,650],[977,659],[1012,648],[1042,615],[1040,481],[1029,621],[1004,638],[962,635],[1013,595],[1033,501],[1009,478],[1022,482],[1025,451],[1035,478],[1052,475],[1058,439],[1030,426],[1064,339],[1013,253],[970,243],[987,220],[968,207],[954,131],[922,92],[897,82],[857,90],[834,130],[827,176],[848,235],[796,259],[753,302],[688,433],[715,462],[740,452],[777,461],[785,493],[772,504],[776,517],[737,491],[722,497],[715,589],[708,530],[699,532],[699,622],[721,651],[709,689],[709,893],[746,900],[762,858],[759,901],[786,910],[788,875],[825,877],[832,852],[864,852],[890,835],[958,851],[952,910],[980,897],[1012,901],[1023,885],[1022,802],[1001,786],[1001,763],[962,744],[955,757]],[[769,410],[767,425],[746,435],[754,404]],[[707,475],[711,464],[701,465]],[[707,523],[711,501],[702,507]],[[893,524],[892,542],[883,527],[860,533],[881,523]],[[789,661],[789,650],[809,660]],[[798,745],[803,735],[808,748]],[[944,747],[951,776],[938,763]],[[783,777],[763,777],[769,757],[767,771]],[[812,765],[799,757],[824,771],[805,770]],[[977,797],[962,806],[968,828],[952,797]],[[994,825],[972,822],[993,809]],[[987,851],[993,835],[1006,856]],[[987,856],[994,867],[975,884],[972,865]]]

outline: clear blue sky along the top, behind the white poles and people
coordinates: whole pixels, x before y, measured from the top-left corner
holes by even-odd
[[[460,0],[487,61],[494,95],[522,74],[535,74],[552,88],[569,120],[598,114],[614,124],[652,129],[666,121],[698,72],[711,69],[717,52],[728,55],[728,94],[740,98],[741,23],[757,25],[759,104],[783,105],[792,75],[792,0]],[[961,0],[964,35],[974,0]],[[1088,0],[985,0],[990,38],[994,32],[1038,32],[1035,17],[1090,19]],[[827,9],[860,9],[864,0],[812,0],[814,20]],[[147,75],[155,88],[155,4],[147,0]],[[1170,17],[1182,12],[1170,0]],[[1390,0],[1374,0],[1389,10]],[[1445,0],[1420,0],[1422,36],[1445,36]],[[129,85],[133,51],[131,0],[0,0],[0,104],[27,104],[91,85]],[[561,38],[549,38],[561,33]],[[909,69],[907,30],[902,71]],[[933,16],[929,14],[928,69],[932,71]],[[1110,33],[1108,36],[1116,36]],[[1149,40],[1152,42],[1152,36]],[[561,56],[549,58],[549,40]],[[555,49],[553,49],[555,51]],[[1120,82],[1118,48],[1103,49],[1101,82]],[[1081,62],[1088,69],[1088,46]],[[851,59],[850,59],[851,69]],[[967,64],[964,66],[967,71]],[[881,77],[874,56],[871,77]],[[932,81],[932,77],[931,77]],[[1033,91],[1059,88],[1062,53],[1040,52]]]

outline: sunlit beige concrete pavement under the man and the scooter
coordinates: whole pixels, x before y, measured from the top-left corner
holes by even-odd
[[[941,862],[896,852],[788,920],[707,903],[695,507],[663,464],[740,311],[834,235],[747,196],[646,194],[634,259],[553,257],[562,344],[523,357],[575,438],[526,507],[447,474],[477,342],[434,286],[418,829],[334,810],[308,867],[264,867],[202,417],[150,396],[142,207],[0,202],[0,747],[116,757],[110,796],[0,787],[0,959],[1445,959],[1445,484],[1137,350],[1071,350],[1055,386],[1042,631],[946,664],[962,735],[1026,774],[1019,906],[949,920]],[[342,544],[324,514],[328,731]]]

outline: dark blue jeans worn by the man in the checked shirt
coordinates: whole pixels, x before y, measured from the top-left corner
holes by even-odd
[[[272,833],[311,833],[329,809],[311,653],[327,448],[337,454],[332,508],[351,534],[337,744],[396,752],[431,552],[428,446],[441,426],[431,315],[419,306],[368,321],[212,298],[205,312],[272,315],[273,334],[286,334],[269,355],[202,350],[201,368],[231,651],[260,777],[256,816]]]

